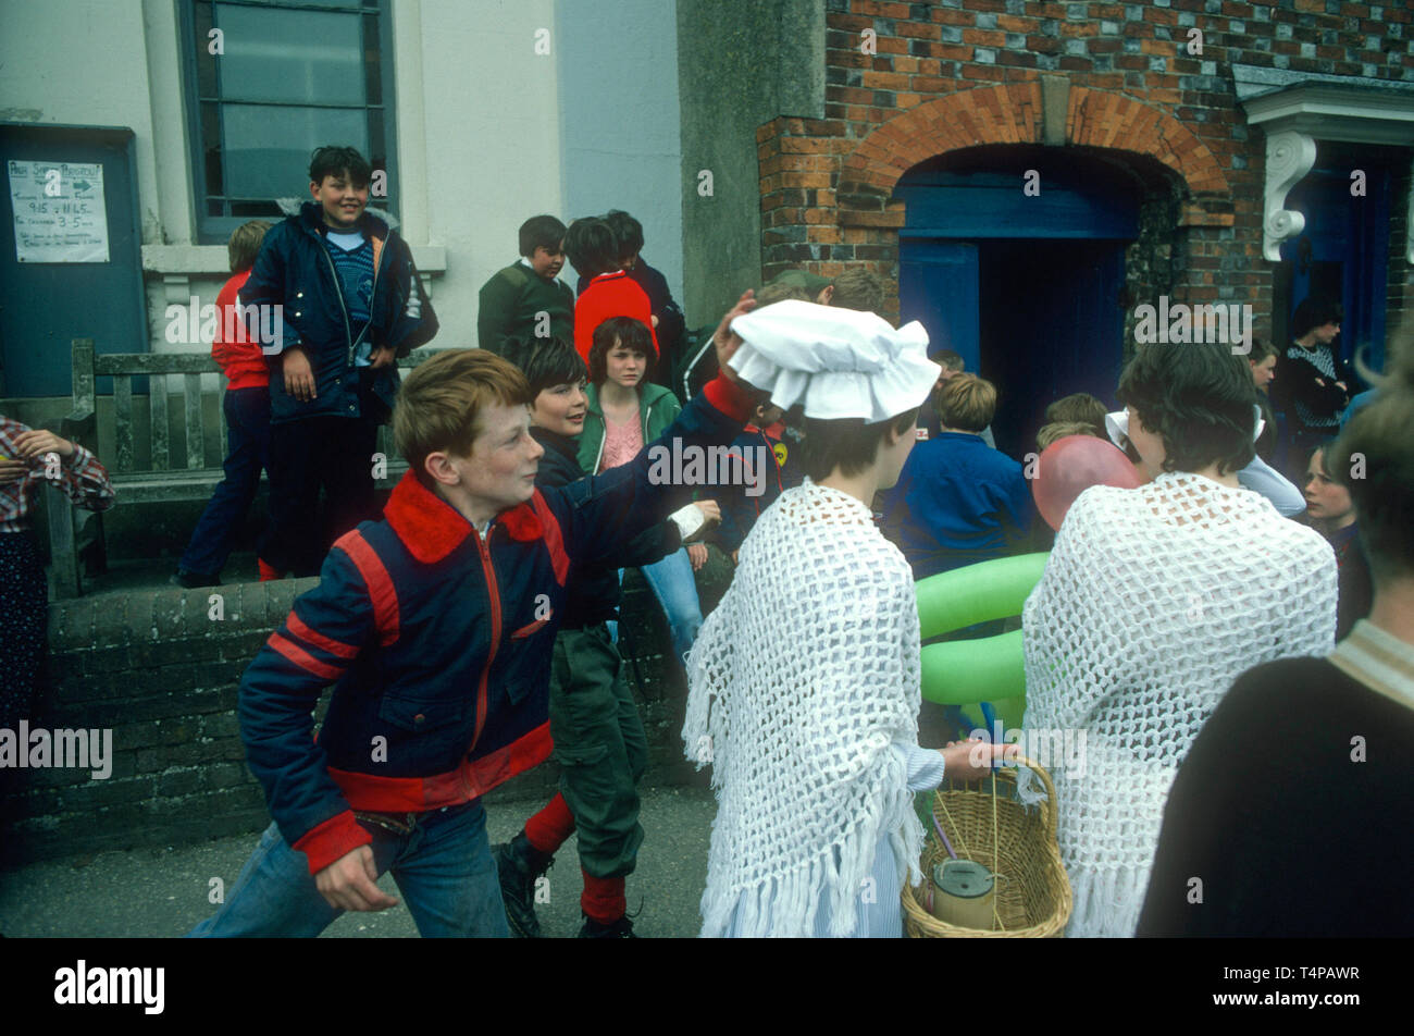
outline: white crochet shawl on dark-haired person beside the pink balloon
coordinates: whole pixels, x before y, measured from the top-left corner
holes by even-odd
[[[1082,773],[1048,764],[1069,936],[1134,934],[1193,737],[1239,674],[1329,652],[1335,606],[1331,546],[1256,493],[1169,473],[1080,494],[1022,613],[1024,726],[1086,732]]]

